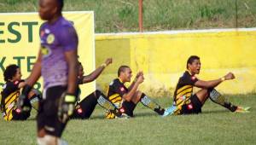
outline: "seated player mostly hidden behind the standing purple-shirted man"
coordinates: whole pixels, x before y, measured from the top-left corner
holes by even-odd
[[[79,63],[79,84],[86,84],[94,81],[107,67],[112,63],[112,58],[108,58],[102,66],[96,68],[96,70],[89,75],[84,76],[84,68],[81,63]],[[80,90],[79,90],[80,91]],[[80,94],[80,92],[79,92]],[[100,90],[92,92],[89,96],[86,96],[84,100],[78,102],[72,119],[89,119],[91,113],[94,111],[96,105],[99,104],[101,107],[115,114],[116,117],[124,117],[123,114],[119,113],[119,109],[113,105],[112,102],[108,101],[108,98],[102,94]]]

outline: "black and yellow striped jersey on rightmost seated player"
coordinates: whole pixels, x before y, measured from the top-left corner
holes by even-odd
[[[189,98],[193,93],[193,86],[198,79],[191,75],[188,71],[183,73],[183,76],[178,79],[176,90],[173,96],[173,102],[177,106],[175,114],[179,114],[183,104],[190,103]]]

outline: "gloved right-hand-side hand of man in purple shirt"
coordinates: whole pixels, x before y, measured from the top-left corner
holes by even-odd
[[[63,93],[58,107],[58,118],[62,123],[67,122],[69,116],[73,114],[76,96]]]

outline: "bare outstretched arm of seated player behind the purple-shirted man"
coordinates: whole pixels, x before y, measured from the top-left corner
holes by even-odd
[[[95,71],[90,73],[89,75],[83,76],[82,84],[90,83],[94,81],[96,78],[100,76],[105,67],[108,67],[109,64],[112,63],[112,58],[108,58],[100,67],[97,67]]]

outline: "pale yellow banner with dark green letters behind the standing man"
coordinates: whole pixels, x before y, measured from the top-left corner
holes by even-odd
[[[93,12],[64,12],[64,17],[73,22],[79,35],[79,61],[85,73],[95,69],[95,38]],[[22,78],[28,77],[38,55],[39,27],[44,21],[38,13],[0,14],[0,84],[4,84],[3,71],[9,64],[20,66]],[[35,88],[42,90],[42,78]],[[96,83],[80,86],[82,99],[96,89]]]

